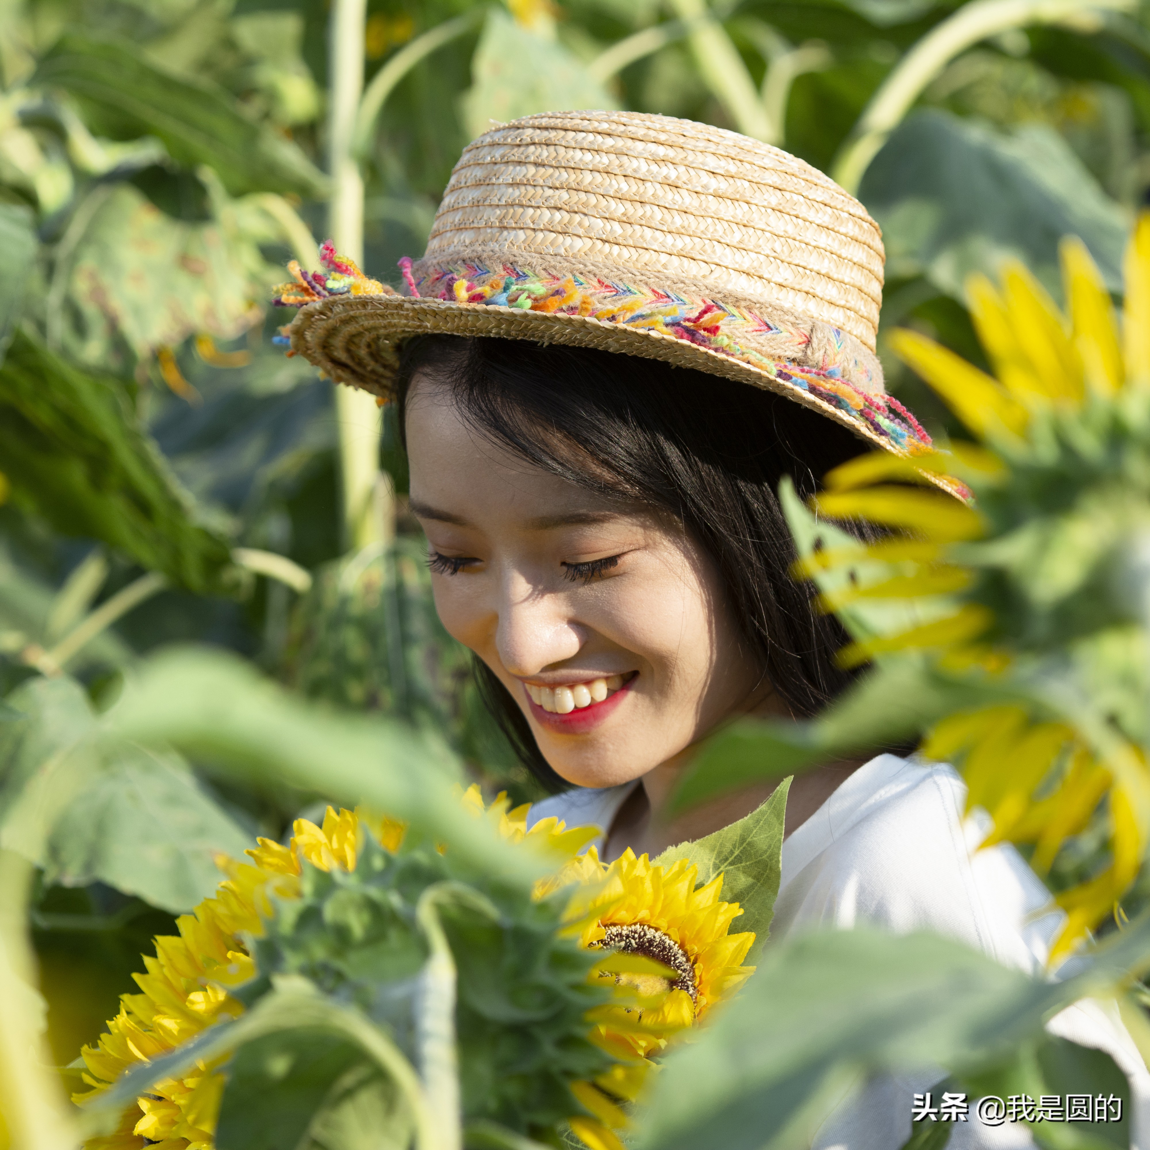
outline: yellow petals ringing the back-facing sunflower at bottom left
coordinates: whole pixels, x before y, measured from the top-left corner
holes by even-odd
[[[532,897],[538,900],[573,882],[600,883],[604,868],[592,853],[583,860],[576,852],[598,835],[593,827],[568,829],[554,818],[527,826],[529,805],[511,808],[505,793],[485,805],[478,787],[462,793],[461,800],[476,818],[489,819],[508,842],[526,843],[539,849],[557,864],[553,876],[536,884]],[[200,903],[191,914],[177,920],[178,935],[155,940],[155,956],[144,957],[146,973],[135,975],[140,994],[123,995],[121,1011],[108,1022],[108,1030],[95,1046],[84,1048],[84,1081],[91,1090],[75,1096],[83,1103],[106,1090],[132,1066],[156,1058],[193,1038],[214,1022],[238,1017],[244,1007],[229,995],[253,977],[255,966],[244,944],[245,937],[264,935],[264,923],[274,914],[273,898],[301,897],[304,861],[330,873],[355,871],[363,846],[363,835],[371,835],[386,851],[397,852],[406,837],[404,822],[362,810],[328,808],[322,826],[298,819],[293,835],[284,846],[260,838],[248,850],[250,862],[221,857],[217,864],[225,873],[215,896]],[[440,844],[440,853],[445,848]],[[588,865],[592,861],[593,865]],[[596,905],[601,905],[601,897]],[[597,964],[595,973],[599,973]],[[621,991],[628,1003],[644,998],[642,994]],[[661,1002],[658,992],[656,995]],[[652,1023],[653,1025],[653,1023]],[[600,1023],[596,1033],[608,1033]],[[666,1027],[664,1027],[666,1028]],[[642,1034],[632,1021],[629,1029]],[[660,1032],[661,1033],[661,1032]],[[654,1043],[658,1044],[658,1043]],[[603,1042],[600,1049],[606,1049]],[[634,1050],[642,1042],[632,1036],[626,1046],[635,1061]],[[162,1150],[212,1150],[220,1101],[225,1084],[220,1065],[225,1058],[201,1063],[195,1071],[181,1078],[161,1081],[137,1099],[124,1114],[118,1129],[108,1136],[89,1141],[90,1150],[143,1150],[159,1144]],[[641,1078],[630,1066],[619,1066],[603,1076],[614,1097],[634,1097]],[[575,1097],[586,1105],[581,1091],[595,1089],[588,1083],[573,1086]],[[597,1102],[601,1095],[596,1091]],[[613,1104],[612,1104],[613,1105]],[[600,1111],[603,1106],[599,1106]],[[592,1110],[592,1113],[595,1111]],[[612,1148],[614,1135],[586,1116],[572,1119],[573,1128],[582,1129],[592,1150]]]

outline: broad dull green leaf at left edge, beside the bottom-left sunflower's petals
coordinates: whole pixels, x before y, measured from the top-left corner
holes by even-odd
[[[21,684],[0,714],[0,844],[67,885],[105,882],[186,911],[220,881],[216,854],[250,837],[170,753],[99,739],[70,678]]]

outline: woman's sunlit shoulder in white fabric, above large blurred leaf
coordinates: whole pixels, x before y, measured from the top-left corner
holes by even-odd
[[[1061,912],[1013,846],[980,850],[988,820],[965,806],[953,767],[872,759],[783,844],[776,934],[862,922],[931,930],[1043,968]]]

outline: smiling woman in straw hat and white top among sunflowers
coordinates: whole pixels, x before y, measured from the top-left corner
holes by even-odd
[[[929,444],[874,355],[879,229],[792,156],[630,113],[555,113],[463,153],[399,297],[328,253],[298,276],[292,348],[399,402],[436,606],[553,789],[534,818],[656,854],[772,785],[687,814],[695,744],[737,714],[811,715],[848,683],[844,637],[789,575],[775,492],[811,493],[869,444]],[[1058,915],[1010,846],[973,853],[964,789],[879,754],[799,775],[774,934],[934,929],[1034,973]],[[1120,1026],[1052,1029],[1145,1075]],[[900,1147],[933,1078],[879,1079],[818,1147]],[[1029,1144],[975,1120],[951,1145]],[[1021,1141],[1019,1141],[1021,1140]]]

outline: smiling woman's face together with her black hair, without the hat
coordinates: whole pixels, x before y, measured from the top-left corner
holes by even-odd
[[[813,492],[857,453],[848,431],[690,368],[522,340],[412,340],[398,393],[439,615],[544,781],[670,781],[724,718],[808,715],[848,682],[774,494],[783,474]]]

